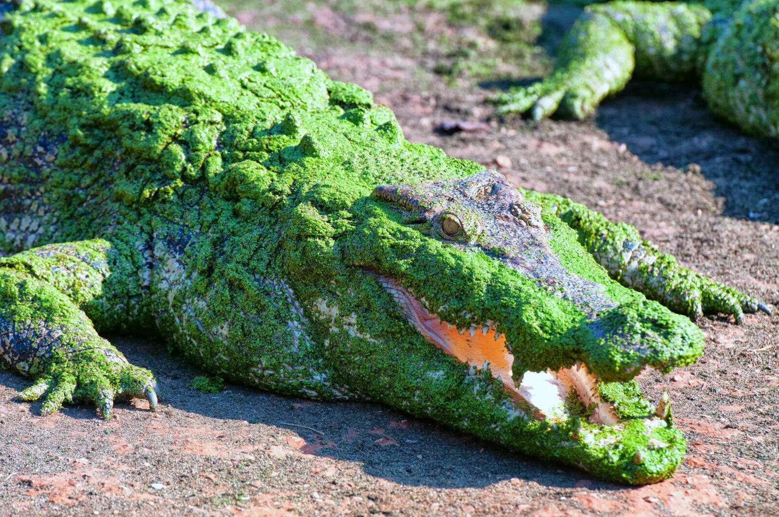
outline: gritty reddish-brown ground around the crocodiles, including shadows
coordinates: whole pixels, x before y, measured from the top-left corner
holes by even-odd
[[[429,53],[368,50],[381,47],[376,23],[368,31],[354,19],[370,12],[308,2],[294,18],[281,3],[226,7],[373,90],[408,139],[633,223],[687,266],[779,305],[777,148],[715,120],[694,87],[636,84],[584,122],[490,121],[489,92],[475,81],[446,86]],[[407,12],[393,16],[380,36],[422,30]],[[422,28],[460,30],[437,20]],[[488,124],[446,135],[445,120]],[[161,343],[116,337],[157,375],[164,406],[118,404],[108,422],[86,406],[42,418],[40,404],[14,399],[28,381],[0,372],[0,514],[776,515],[777,313],[743,325],[703,318],[697,364],[640,376],[651,399],[669,390],[689,441],[675,477],[647,487],[603,483],[380,406],[237,386],[203,394],[188,387],[199,371]]]

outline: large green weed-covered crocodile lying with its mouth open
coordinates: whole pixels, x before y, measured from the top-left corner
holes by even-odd
[[[44,414],[157,406],[101,337],[132,332],[231,382],[652,483],[686,443],[633,377],[700,355],[687,315],[765,308],[633,227],[407,142],[371,93],[234,19],[6,10],[0,362]]]

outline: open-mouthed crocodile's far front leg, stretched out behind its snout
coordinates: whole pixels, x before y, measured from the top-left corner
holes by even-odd
[[[692,318],[730,314],[737,323],[743,321],[745,312],[770,314],[768,306],[755,298],[679,266],[672,255],[643,240],[636,227],[612,223],[601,213],[559,195],[530,190],[525,195],[576,230],[580,243],[609,276],[672,311]]]

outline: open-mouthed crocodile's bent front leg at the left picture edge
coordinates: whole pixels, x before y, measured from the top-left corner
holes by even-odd
[[[157,406],[151,372],[97,333],[143,321],[143,268],[122,251],[97,239],[0,259],[0,362],[36,379],[21,399],[45,395],[44,414],[78,400],[104,418],[116,398]]]

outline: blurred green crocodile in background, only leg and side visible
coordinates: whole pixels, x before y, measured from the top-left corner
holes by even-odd
[[[700,81],[715,114],[753,135],[779,136],[779,2],[608,2],[566,34],[547,79],[496,97],[499,114],[592,114],[633,76]]]

